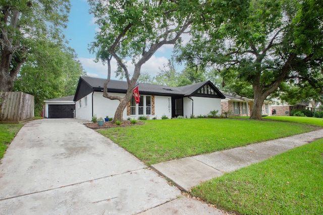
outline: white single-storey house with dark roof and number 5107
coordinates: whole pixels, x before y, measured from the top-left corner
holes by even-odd
[[[80,77],[74,96],[76,102],[75,118],[91,120],[97,117],[114,117],[119,105],[118,100],[104,98],[105,79]],[[109,95],[124,97],[128,84],[124,81],[111,80],[107,85]],[[138,84],[140,102],[134,97],[123,112],[123,119],[147,116],[160,119],[192,115],[207,115],[212,110],[221,112],[221,99],[224,95],[210,81],[184,87],[166,87],[151,84]]]

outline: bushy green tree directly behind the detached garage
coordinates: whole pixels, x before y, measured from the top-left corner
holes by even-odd
[[[39,115],[44,100],[75,94],[80,76],[86,76],[74,50],[47,40],[33,44],[14,90],[35,97],[35,115]]]

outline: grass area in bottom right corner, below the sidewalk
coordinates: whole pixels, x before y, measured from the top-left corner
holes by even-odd
[[[192,189],[238,214],[323,214],[323,139]]]

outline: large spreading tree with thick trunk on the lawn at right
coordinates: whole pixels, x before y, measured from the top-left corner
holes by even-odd
[[[263,101],[282,83],[323,86],[322,7],[321,0],[209,2],[178,60],[215,66],[224,77],[234,71],[252,86],[251,118],[261,119]]]

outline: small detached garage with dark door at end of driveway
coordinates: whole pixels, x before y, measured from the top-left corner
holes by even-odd
[[[74,96],[45,100],[45,118],[74,118]]]

